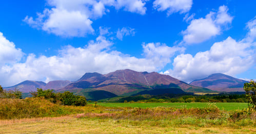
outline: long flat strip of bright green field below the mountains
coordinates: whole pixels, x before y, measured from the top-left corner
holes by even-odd
[[[94,104],[94,103],[90,103]],[[192,103],[97,103],[97,105],[108,106],[108,107],[176,107],[176,108],[203,108],[209,105],[215,105],[221,110],[235,110],[247,108],[247,103],[208,103],[208,102],[192,102]]]

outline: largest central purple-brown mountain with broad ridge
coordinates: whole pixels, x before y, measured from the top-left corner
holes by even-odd
[[[70,83],[58,91],[72,91],[83,88],[94,88],[111,92],[115,95],[138,93],[138,90],[154,90],[155,88],[181,88],[186,92],[209,92],[202,87],[191,86],[169,75],[159,73],[136,72],[132,70],[117,70],[102,75],[99,73],[86,73],[78,81]],[[140,91],[139,91],[140,92]]]

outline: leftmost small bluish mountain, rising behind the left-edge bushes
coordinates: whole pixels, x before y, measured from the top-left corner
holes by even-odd
[[[18,83],[14,86],[10,87],[4,87],[5,90],[14,90],[14,88],[17,88],[19,91],[23,93],[29,93],[31,91],[36,91],[37,88],[43,88],[46,85],[45,82],[42,81],[31,81],[26,80],[21,83]]]

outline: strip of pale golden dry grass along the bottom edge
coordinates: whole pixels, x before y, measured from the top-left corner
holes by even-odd
[[[256,133],[253,126],[246,127],[159,127],[131,125],[126,120],[87,119],[84,115],[1,120],[0,133]],[[77,118],[78,117],[78,118]]]

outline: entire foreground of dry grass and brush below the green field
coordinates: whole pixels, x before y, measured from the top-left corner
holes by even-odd
[[[12,116],[6,117],[6,112]],[[221,110],[215,105],[74,107],[40,98],[2,100],[1,113],[0,133],[256,133],[256,111]]]

